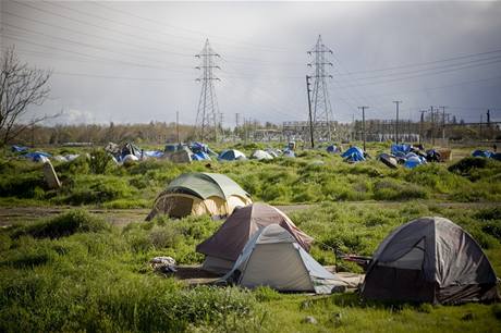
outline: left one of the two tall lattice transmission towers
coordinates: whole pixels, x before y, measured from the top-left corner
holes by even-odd
[[[196,79],[201,82],[200,99],[198,101],[196,114],[197,136],[201,141],[217,141],[219,107],[216,99],[213,82],[219,81],[219,78],[213,74],[213,70],[220,69],[216,65],[216,58],[218,58],[219,54],[212,50],[209,45],[209,39],[207,39],[201,52],[195,57],[200,59],[200,65],[195,69],[201,71],[201,76]]]

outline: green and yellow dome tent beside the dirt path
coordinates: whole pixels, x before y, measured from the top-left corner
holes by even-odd
[[[158,195],[146,221],[158,213],[173,218],[190,214],[222,218],[231,214],[235,207],[252,202],[249,194],[223,174],[184,173]]]

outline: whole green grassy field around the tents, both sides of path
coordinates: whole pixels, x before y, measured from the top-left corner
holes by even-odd
[[[240,148],[248,152],[254,147]],[[372,156],[382,150],[388,148],[370,147]],[[0,162],[3,207],[70,208],[35,221],[20,218],[0,229],[0,332],[501,331],[501,305],[388,305],[362,301],[356,294],[190,286],[155,273],[148,261],[171,256],[181,264],[201,262],[195,246],[221,222],[160,217],[144,223],[137,217],[113,226],[89,213],[95,208],[148,208],[176,175],[220,172],[240,183],[255,201],[315,203],[290,217],[318,240],[311,249],[315,259],[340,271],[361,269],[337,260],[330,247],[370,256],[398,225],[439,215],[471,233],[501,272],[500,162],[456,158],[447,164],[390,170],[376,160],[352,165],[323,151],[298,155],[269,162],[211,162],[210,168],[151,160],[105,170],[82,158],[56,164],[64,186],[48,190],[39,164],[5,153]],[[306,322],[308,316],[316,323]]]

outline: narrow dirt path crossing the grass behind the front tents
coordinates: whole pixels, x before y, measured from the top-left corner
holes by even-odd
[[[431,200],[418,201],[428,206],[439,206],[445,208],[462,208],[462,209],[479,209],[486,207],[499,207],[501,202],[436,202]],[[399,207],[404,205],[402,201],[346,201],[340,202],[340,205],[353,205],[353,206],[375,206],[375,207]],[[303,210],[308,208],[318,207],[321,203],[314,205],[289,205],[289,206],[276,206],[284,213],[290,213],[295,210]],[[0,226],[11,225],[13,223],[23,222],[29,223],[40,218],[50,218],[75,209],[75,207],[0,207]],[[87,209],[87,208],[86,208]],[[149,212],[149,209],[96,209],[88,208],[89,212],[99,214],[105,218],[108,222],[113,225],[123,226],[131,222],[144,221]]]

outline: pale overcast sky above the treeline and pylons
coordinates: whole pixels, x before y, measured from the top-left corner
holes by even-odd
[[[501,121],[500,2],[50,2],[1,4],[1,48],[51,69],[37,113],[60,123],[194,123],[206,38],[219,54],[225,126],[306,120],[307,51],[321,34],[333,54],[334,120],[447,106],[467,122]]]

